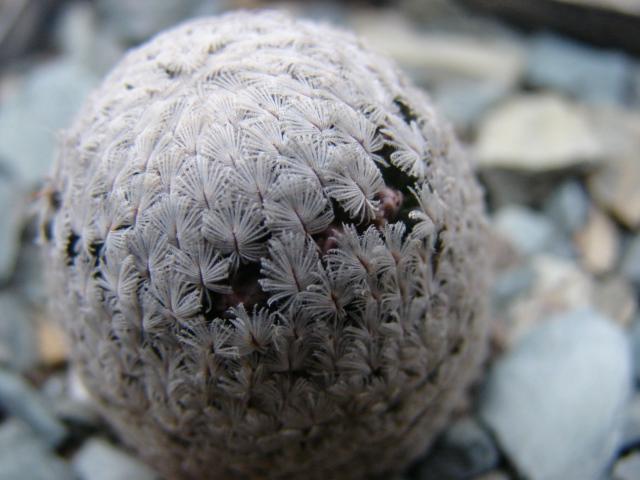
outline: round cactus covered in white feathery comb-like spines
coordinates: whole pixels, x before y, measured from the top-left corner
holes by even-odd
[[[47,192],[73,361],[167,478],[395,471],[482,359],[480,190],[350,34],[248,12],[160,34],[63,134]]]

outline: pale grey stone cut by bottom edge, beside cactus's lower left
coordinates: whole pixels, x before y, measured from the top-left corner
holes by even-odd
[[[74,455],[73,469],[81,480],[155,480],[146,465],[101,438],[85,442]]]

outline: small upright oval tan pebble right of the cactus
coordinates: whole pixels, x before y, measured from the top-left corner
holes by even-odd
[[[589,212],[584,228],[575,236],[584,267],[594,273],[610,272],[618,262],[618,231],[615,223],[597,209]]]

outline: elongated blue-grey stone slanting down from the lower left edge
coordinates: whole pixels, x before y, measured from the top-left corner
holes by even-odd
[[[28,424],[47,445],[60,445],[67,437],[64,425],[34,388],[18,375],[0,368],[0,407]]]

